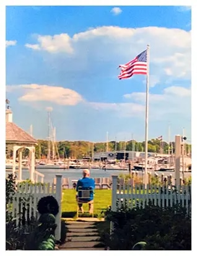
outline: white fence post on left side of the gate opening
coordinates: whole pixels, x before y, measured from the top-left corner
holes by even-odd
[[[59,212],[56,215],[56,224],[57,227],[55,229],[55,238],[56,241],[61,239],[61,196],[62,196],[62,185],[61,185],[61,174],[56,174],[56,200],[58,201],[59,205]]]

